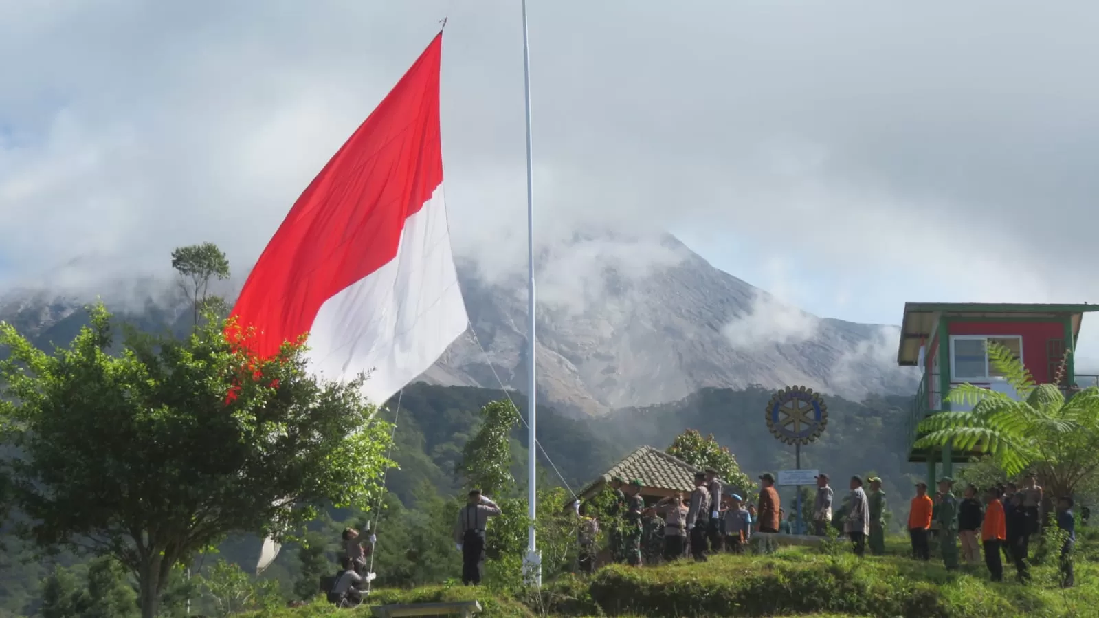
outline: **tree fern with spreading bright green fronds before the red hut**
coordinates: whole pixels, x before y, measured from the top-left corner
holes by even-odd
[[[915,448],[953,444],[962,451],[981,450],[1008,476],[1034,468],[1047,495],[1070,495],[1099,471],[1099,457],[1095,456],[1099,450],[1099,387],[1066,398],[1058,384],[1035,384],[1008,347],[992,343],[988,357],[1019,399],[972,384],[955,386],[946,400],[972,405],[973,409],[924,419],[920,423],[924,435]]]

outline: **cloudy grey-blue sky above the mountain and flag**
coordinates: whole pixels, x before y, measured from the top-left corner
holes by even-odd
[[[86,279],[156,271],[207,240],[251,263],[444,16],[456,250],[523,267],[518,0],[0,0],[0,286],[77,257]],[[531,0],[530,19],[544,243],[669,230],[877,323],[912,300],[1099,301],[1099,3]]]

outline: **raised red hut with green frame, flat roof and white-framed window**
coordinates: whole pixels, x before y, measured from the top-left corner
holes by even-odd
[[[1064,362],[1061,384],[1068,387],[1076,384],[1077,375],[1073,355],[1065,360],[1065,351],[1076,349],[1084,313],[1090,311],[1099,311],[1099,305],[904,305],[897,363],[920,367],[922,373],[908,418],[908,461],[926,462],[929,487],[934,486],[939,464],[941,474],[948,476],[955,463],[967,462],[979,453],[950,446],[914,449],[920,421],[952,409],[945,398],[953,385],[969,383],[1013,393],[990,366],[986,342],[1015,352],[1040,384],[1056,382]]]

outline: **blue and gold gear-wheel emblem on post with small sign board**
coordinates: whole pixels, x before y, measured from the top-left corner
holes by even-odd
[[[767,404],[767,429],[784,444],[793,445],[795,468],[778,473],[778,484],[793,486],[795,534],[804,533],[801,520],[801,487],[815,483],[815,470],[801,470],[801,445],[820,438],[828,424],[828,406],[819,393],[804,386],[787,386]]]

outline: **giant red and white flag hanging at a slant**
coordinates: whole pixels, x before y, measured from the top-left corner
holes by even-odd
[[[232,312],[262,356],[308,332],[313,371],[371,372],[378,405],[468,323],[443,198],[442,46],[440,33],[298,198]]]

